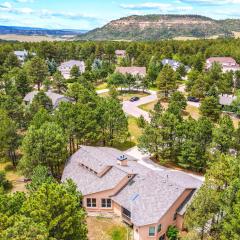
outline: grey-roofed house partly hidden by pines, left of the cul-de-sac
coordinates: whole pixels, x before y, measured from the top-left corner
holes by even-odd
[[[32,91],[28,93],[23,101],[25,102],[26,105],[31,104],[35,95],[37,95],[39,92],[38,91]],[[45,92],[45,94],[52,100],[53,108],[57,108],[60,102],[71,102],[72,99],[69,97],[65,97],[64,95],[57,94],[51,91]]]

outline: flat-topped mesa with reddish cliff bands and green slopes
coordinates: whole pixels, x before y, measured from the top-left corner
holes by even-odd
[[[215,20],[200,15],[133,15],[111,21],[78,37],[80,40],[161,40],[177,37],[231,37],[240,19]]]

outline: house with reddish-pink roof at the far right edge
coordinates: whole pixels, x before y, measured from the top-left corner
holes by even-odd
[[[214,63],[218,63],[222,66],[223,72],[238,71],[240,70],[239,64],[231,57],[211,57],[206,61],[206,69],[211,69]]]

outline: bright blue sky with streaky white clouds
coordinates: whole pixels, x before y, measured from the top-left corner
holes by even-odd
[[[0,0],[0,25],[8,26],[90,30],[132,14],[240,18],[240,0]]]

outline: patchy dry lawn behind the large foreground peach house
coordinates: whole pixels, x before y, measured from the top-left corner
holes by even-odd
[[[87,224],[89,240],[125,240],[130,233],[120,219],[88,217]]]

